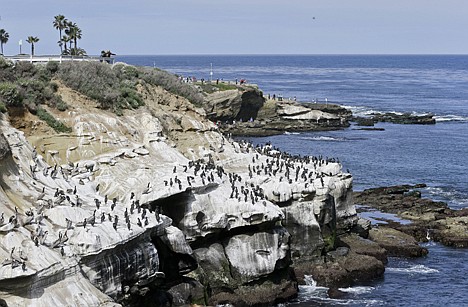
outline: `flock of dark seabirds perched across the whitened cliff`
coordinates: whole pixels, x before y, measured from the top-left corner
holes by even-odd
[[[234,145],[234,141],[231,140],[231,142]],[[159,190],[176,189],[176,191],[171,191],[173,194],[176,194],[180,191],[185,192],[194,186],[220,184],[228,180],[231,187],[230,199],[236,199],[239,202],[250,202],[252,205],[261,201],[266,206],[266,201],[269,200],[268,196],[261,187],[261,184],[253,183],[252,179],[254,177],[276,178],[278,182],[290,184],[302,182],[305,188],[309,184],[313,184],[314,180],[319,179],[323,187],[323,178],[336,174],[324,173],[319,170],[322,166],[326,166],[329,163],[339,163],[337,159],[333,158],[289,155],[274,148],[271,144],[253,146],[251,143],[244,141],[236,144],[242,152],[251,153],[252,163],[248,164],[248,174],[246,172],[227,173],[222,166],[216,165],[211,157],[209,161],[201,159],[188,161],[186,165],[174,166],[172,175],[169,178],[164,178],[160,183],[161,186],[154,187],[151,182],[148,182],[146,187],[141,192],[138,192],[139,195],[151,194],[155,192],[156,188]],[[53,180],[61,177],[69,183],[72,180],[76,183],[76,179],[79,178],[78,184],[85,185],[85,180],[91,181],[91,175],[96,170],[96,164],[93,163],[80,166],[78,163],[74,164],[70,162],[61,166],[57,164],[49,166],[42,160],[42,156],[37,154],[35,149],[32,152],[32,161],[30,171],[33,179],[36,181],[40,174],[43,176],[40,178],[41,180],[47,177]],[[183,181],[180,178],[185,180]],[[135,224],[141,229],[147,227],[151,223],[149,220],[150,216],[154,216],[158,224],[161,221],[161,207],[149,208],[148,203],[141,204],[135,192],[131,192],[130,195],[123,197],[113,197],[110,199],[108,195],[100,195],[100,185],[98,184],[94,188],[94,202],[89,202],[84,199],[89,199],[90,195],[83,195],[83,197],[80,195],[79,190],[76,185],[68,189],[60,189],[58,187],[52,189],[43,186],[42,191],[34,200],[36,205],[28,211],[21,214],[15,207],[15,212],[8,221],[5,220],[4,213],[1,213],[0,234],[8,233],[18,227],[28,226],[27,229],[30,231],[30,237],[35,246],[43,245],[52,249],[60,248],[60,254],[65,257],[67,255],[64,246],[69,241],[68,232],[73,229],[83,228],[87,230],[90,227],[96,226],[96,224],[112,223],[115,231],[122,227],[131,231]],[[154,195],[152,196],[153,198],[155,197]],[[76,220],[75,217],[70,216],[65,218],[65,229],[59,230],[58,237],[54,240],[48,240],[49,230],[48,226],[45,226],[47,225],[45,222],[48,221],[55,226],[61,223],[56,223],[51,217],[47,216],[47,210],[58,206],[76,208],[85,206],[85,209],[88,211],[91,207],[94,207],[94,210],[91,216],[81,220]],[[154,223],[151,224],[153,225]],[[27,255],[21,248],[13,247],[10,257],[5,259],[2,264],[11,265],[13,268],[21,266],[23,270],[27,270],[27,259]]]

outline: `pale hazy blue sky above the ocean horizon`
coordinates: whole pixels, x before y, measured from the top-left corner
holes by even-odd
[[[0,0],[5,54],[57,53],[58,14],[88,54],[468,53],[467,0]]]

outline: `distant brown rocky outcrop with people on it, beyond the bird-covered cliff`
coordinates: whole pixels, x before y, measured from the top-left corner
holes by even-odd
[[[208,94],[203,107],[223,132],[232,135],[267,136],[349,126],[351,111],[341,106],[270,98],[255,86],[239,85]]]

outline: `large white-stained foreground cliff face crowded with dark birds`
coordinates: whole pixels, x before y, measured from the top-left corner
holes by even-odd
[[[113,306],[296,295],[292,261],[316,259],[355,223],[351,176],[333,160],[234,142],[185,99],[141,91],[146,106],[118,117],[61,86],[72,107],[55,116],[70,134],[1,121],[0,296]]]

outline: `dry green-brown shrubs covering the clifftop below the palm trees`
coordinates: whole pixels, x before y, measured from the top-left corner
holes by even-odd
[[[144,105],[138,91],[141,86],[160,86],[197,106],[203,102],[203,95],[196,87],[159,69],[101,62],[49,62],[47,65],[19,62],[13,65],[0,58],[0,112],[24,108],[47,122],[55,131],[70,131],[43,107],[47,105],[59,111],[68,108],[57,94],[57,83],[95,100],[99,108],[111,110],[117,115],[121,115],[124,109]]]

